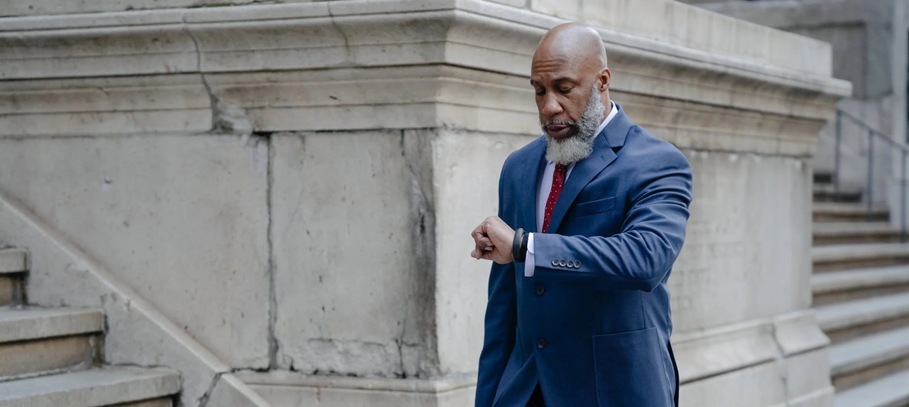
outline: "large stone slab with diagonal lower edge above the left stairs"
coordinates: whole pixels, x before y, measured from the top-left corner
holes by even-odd
[[[225,361],[267,366],[265,142],[232,135],[2,139],[0,156],[5,193],[66,231]],[[63,272],[34,268],[30,301],[118,301],[75,300],[67,294],[72,287],[52,277]]]

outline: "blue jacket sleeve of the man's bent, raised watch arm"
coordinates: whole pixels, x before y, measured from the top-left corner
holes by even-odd
[[[621,232],[608,237],[534,234],[536,273],[587,273],[612,290],[652,291],[664,281],[682,250],[692,172],[674,147],[648,158],[631,174]],[[580,262],[580,267],[554,264],[560,260]]]

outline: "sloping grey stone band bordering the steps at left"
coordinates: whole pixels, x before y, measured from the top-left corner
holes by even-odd
[[[58,287],[65,287],[55,293],[55,301],[89,307],[100,303],[104,308],[105,362],[174,368],[181,372],[180,400],[184,405],[198,405],[217,374],[230,370],[229,365],[195,342],[184,326],[177,326],[135,290],[119,283],[115,274],[92,260],[63,233],[5,194],[0,194],[0,223],[4,225],[0,240],[15,240],[35,256],[30,262],[33,276],[41,275]],[[33,288],[37,285],[34,282]],[[100,301],[103,298],[110,301]],[[244,389],[238,391],[242,393]],[[257,405],[265,407],[262,403]]]

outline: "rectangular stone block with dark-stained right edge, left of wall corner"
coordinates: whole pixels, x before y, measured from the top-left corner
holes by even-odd
[[[437,371],[424,137],[272,136],[279,366],[390,377]]]

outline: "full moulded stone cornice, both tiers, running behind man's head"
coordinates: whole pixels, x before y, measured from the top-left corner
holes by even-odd
[[[536,134],[530,60],[544,30],[563,21],[483,0],[4,18],[0,136],[223,132],[223,116],[237,112],[254,131]],[[798,63],[829,59],[829,46],[802,37],[775,46],[814,54],[760,64],[600,32],[613,98],[680,148],[812,154],[851,89],[824,64]],[[760,33],[756,48],[787,35]]]

